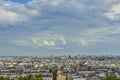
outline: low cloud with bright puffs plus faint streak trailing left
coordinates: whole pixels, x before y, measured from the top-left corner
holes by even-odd
[[[50,49],[63,49],[62,46],[66,45],[66,39],[61,35],[41,35],[41,36],[32,36],[23,40],[14,40],[11,41],[12,44],[17,46],[31,46],[34,48],[50,48]]]

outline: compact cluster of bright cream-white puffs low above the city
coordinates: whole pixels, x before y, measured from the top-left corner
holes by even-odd
[[[61,46],[61,45],[66,45],[66,40],[63,36],[60,35],[45,35],[44,36],[37,36],[37,37],[32,37],[32,42],[33,45],[36,45],[38,47],[40,46],[48,46],[48,47],[53,47],[53,46]]]

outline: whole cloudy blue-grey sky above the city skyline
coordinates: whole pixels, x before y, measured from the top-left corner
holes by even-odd
[[[0,56],[119,55],[120,0],[0,0]]]

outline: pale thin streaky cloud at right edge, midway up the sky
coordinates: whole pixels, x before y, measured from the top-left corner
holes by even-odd
[[[100,27],[92,28],[83,32],[80,35],[79,46],[97,45],[99,43],[111,43],[114,44],[120,40],[120,28],[119,27]]]

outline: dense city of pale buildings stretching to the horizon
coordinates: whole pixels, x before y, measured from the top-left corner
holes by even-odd
[[[20,80],[39,74],[40,80],[108,80],[109,75],[120,77],[120,56],[0,57],[0,76]]]

